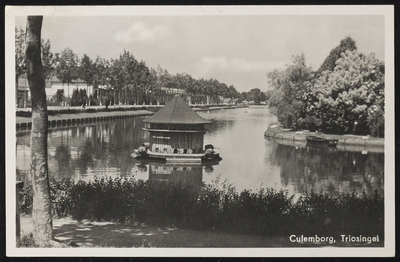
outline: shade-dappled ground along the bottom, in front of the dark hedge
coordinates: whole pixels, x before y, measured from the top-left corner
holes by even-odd
[[[33,232],[32,217],[21,217],[21,236]],[[71,218],[53,219],[54,238],[62,247],[320,247],[364,246],[377,247],[382,243],[291,242],[289,236],[261,237],[227,234],[215,231],[183,230],[178,228],[149,227],[145,224],[121,224],[115,222],[77,221]],[[383,239],[382,239],[383,241]]]

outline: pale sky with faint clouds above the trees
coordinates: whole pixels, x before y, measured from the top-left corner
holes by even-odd
[[[26,17],[16,26],[25,29]],[[383,15],[44,16],[53,53],[117,58],[124,49],[147,66],[215,78],[240,92],[268,90],[266,73],[304,53],[318,69],[350,36],[362,53],[384,61]]]

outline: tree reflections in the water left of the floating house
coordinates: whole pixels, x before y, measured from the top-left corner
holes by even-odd
[[[18,134],[17,147],[29,149],[29,133]],[[131,154],[143,142],[141,118],[100,122],[49,132],[49,174],[56,179],[86,175],[131,175]],[[24,154],[17,150],[17,158]],[[22,156],[22,155],[21,155]],[[22,163],[17,163],[17,170]]]

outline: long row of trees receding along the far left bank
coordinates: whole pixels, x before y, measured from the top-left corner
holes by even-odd
[[[18,78],[26,71],[24,30],[16,28],[15,36],[18,83]],[[166,97],[174,92],[190,97],[191,103],[221,103],[241,98],[232,85],[212,78],[194,79],[186,73],[171,74],[160,66],[149,68],[126,50],[118,58],[107,60],[97,56],[93,61],[86,54],[79,58],[70,48],[52,54],[50,47],[49,40],[42,40],[45,80],[49,81],[55,75],[63,84],[69,85],[80,79],[97,90],[95,99],[106,98],[120,104],[163,104]],[[103,98],[101,94],[104,94]]]

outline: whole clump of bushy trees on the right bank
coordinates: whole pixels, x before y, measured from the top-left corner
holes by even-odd
[[[314,72],[304,54],[267,73],[268,105],[285,127],[384,136],[385,65],[350,37]]]

